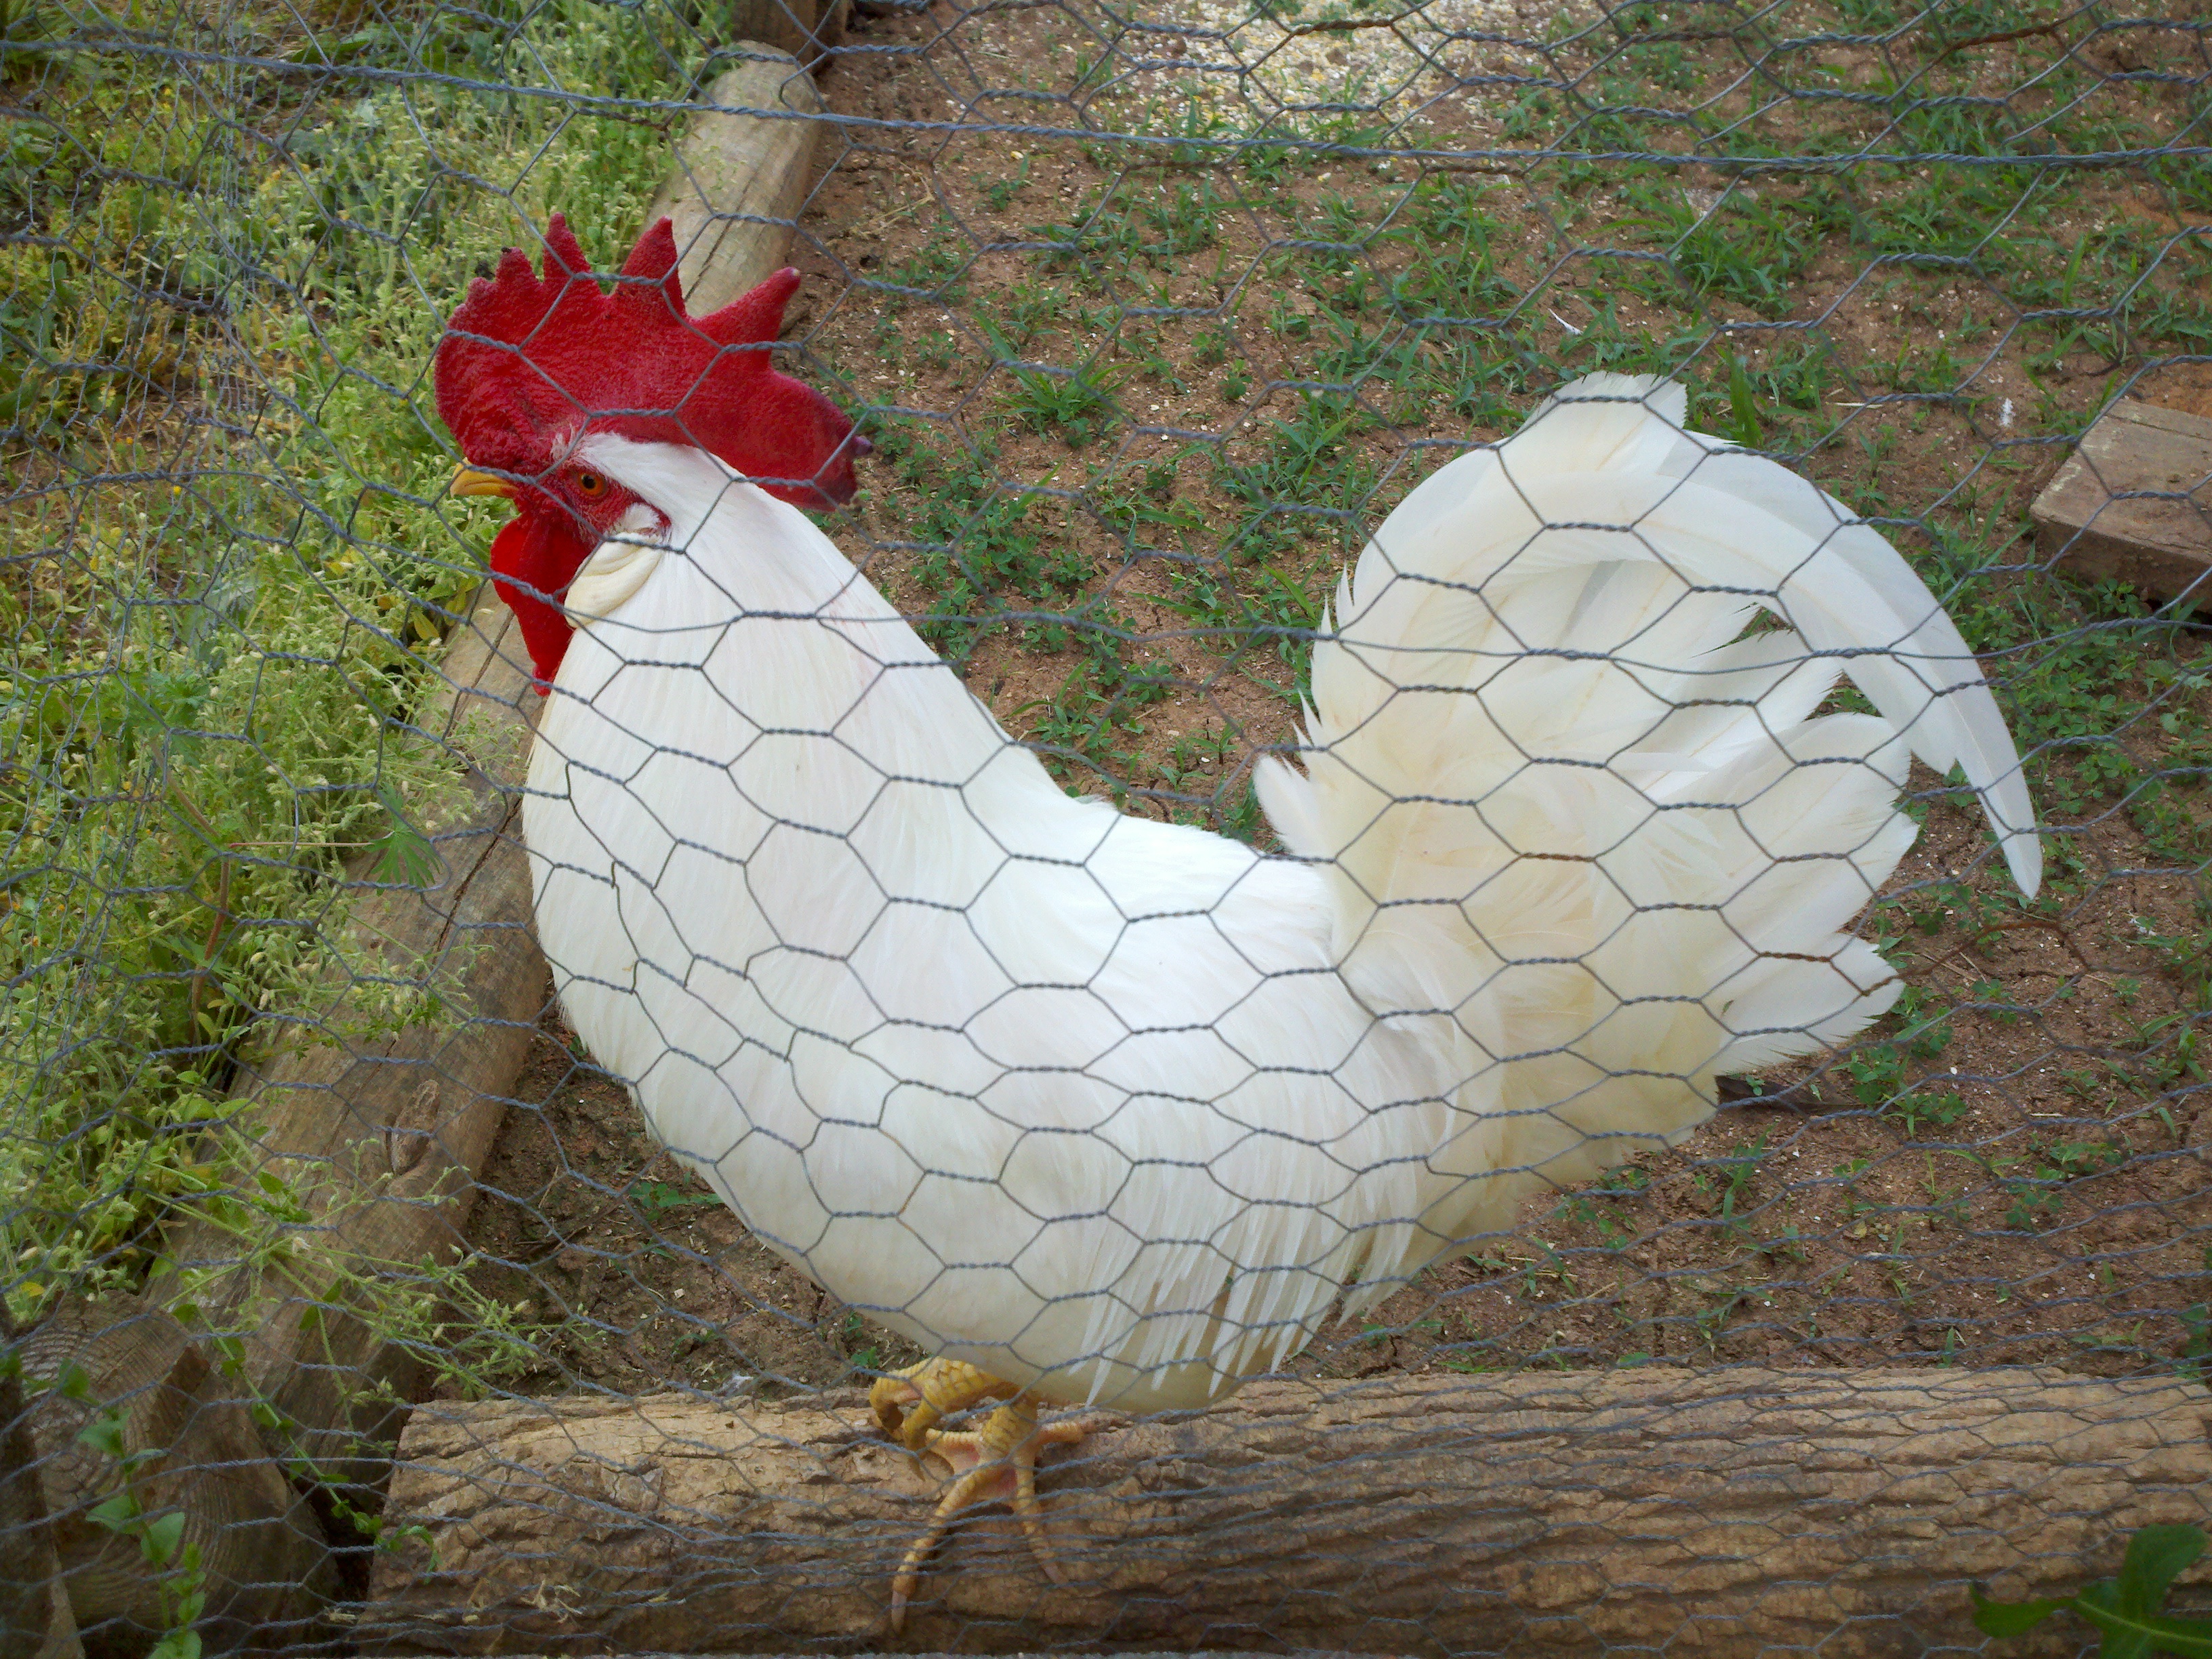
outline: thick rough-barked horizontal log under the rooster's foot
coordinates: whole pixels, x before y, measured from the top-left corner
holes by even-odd
[[[2057,1590],[2137,1526],[2205,1522],[2208,1431],[2203,1387],[2026,1369],[1256,1383],[1048,1453],[1073,1586],[984,1511],[907,1646],[1975,1646],[1966,1579]],[[876,1646],[933,1493],[858,1394],[425,1407],[387,1511],[420,1531],[378,1557],[363,1650]]]

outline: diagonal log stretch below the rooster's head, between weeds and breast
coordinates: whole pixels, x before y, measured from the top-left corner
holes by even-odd
[[[361,1444],[394,1438],[422,1383],[372,1310],[394,1272],[460,1250],[551,993],[518,825],[538,701],[520,630],[484,584],[422,717],[469,768],[458,805],[418,825],[436,872],[356,907],[330,945],[323,1000],[283,1015],[285,1035],[234,1091],[257,1181],[296,1219],[243,1234],[181,1228],[148,1287],[157,1305],[188,1298],[195,1323],[237,1334],[243,1391],[288,1420],[288,1449],[347,1480],[380,1473]],[[374,1006],[394,989],[436,995],[436,1018],[378,1029],[363,991]]]

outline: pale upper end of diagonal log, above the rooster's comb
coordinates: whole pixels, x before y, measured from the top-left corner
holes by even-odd
[[[790,51],[752,40],[737,49],[754,55],[706,91],[706,102],[723,108],[692,117],[677,144],[675,170],[646,208],[648,226],[661,217],[672,221],[684,305],[692,316],[719,312],[783,265],[821,133],[821,122],[730,113],[787,108],[812,115],[823,106],[814,80]]]

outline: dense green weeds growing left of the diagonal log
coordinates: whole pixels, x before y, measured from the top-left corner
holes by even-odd
[[[522,51],[653,95],[670,64],[580,0],[323,46],[453,75]],[[97,482],[11,493],[0,584],[0,1248],[27,1314],[135,1285],[157,1228],[237,1183],[210,1126],[241,1046],[307,1002],[356,883],[431,874],[420,818],[460,779],[409,721],[487,538],[445,504],[420,376],[502,246],[553,206],[630,223],[664,164],[653,128],[460,86],[307,104],[250,153],[232,95],[153,60],[55,60],[31,97],[11,186],[51,237],[0,250],[0,442],[27,484]],[[188,374],[259,416],[186,418]],[[405,973],[336,1024],[422,1018]]]

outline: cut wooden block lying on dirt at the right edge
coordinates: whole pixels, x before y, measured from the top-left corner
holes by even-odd
[[[2044,557],[2066,568],[2212,606],[2212,420],[2121,398],[2028,515]]]

